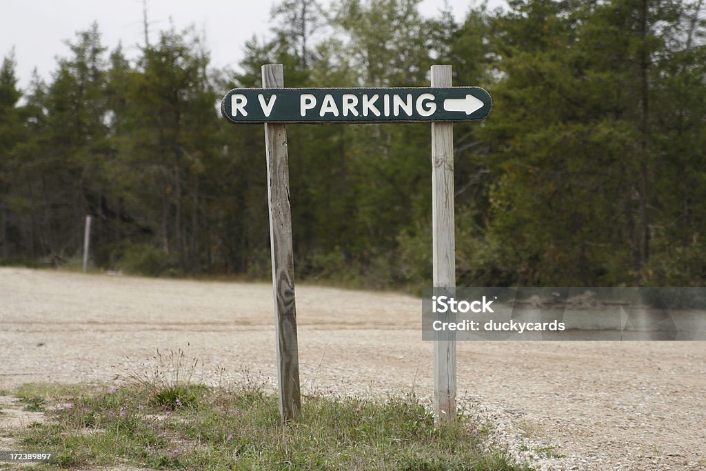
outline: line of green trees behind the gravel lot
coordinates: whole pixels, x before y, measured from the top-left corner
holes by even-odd
[[[128,60],[78,32],[52,78],[0,71],[0,261],[150,275],[270,273],[262,126],[217,112],[285,64],[287,87],[428,86],[493,97],[455,125],[459,285],[706,280],[702,0],[511,0],[462,23],[418,0],[285,0],[239,71],[193,30]],[[145,38],[147,39],[147,38]],[[23,60],[31,60],[23,58]],[[428,125],[289,126],[297,278],[431,285]]]

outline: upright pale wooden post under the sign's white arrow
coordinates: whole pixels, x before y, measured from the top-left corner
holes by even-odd
[[[431,86],[451,86],[451,66],[431,66]],[[455,222],[453,185],[453,123],[431,123],[431,224],[433,239],[433,285],[456,286]],[[445,317],[444,317],[445,316]],[[455,314],[439,315],[455,322]],[[434,409],[438,421],[456,417],[456,335],[436,333],[434,345]]]

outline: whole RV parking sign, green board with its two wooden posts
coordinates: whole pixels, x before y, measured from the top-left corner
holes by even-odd
[[[301,413],[301,388],[286,124],[431,123],[433,285],[448,288],[456,283],[453,122],[484,119],[493,103],[482,88],[451,86],[451,66],[431,66],[431,87],[424,88],[284,88],[282,64],[266,64],[262,73],[263,88],[230,90],[221,112],[234,124],[265,124],[277,382],[287,422]],[[455,321],[455,314],[443,316]],[[441,422],[456,415],[454,334],[434,339],[434,408]]]

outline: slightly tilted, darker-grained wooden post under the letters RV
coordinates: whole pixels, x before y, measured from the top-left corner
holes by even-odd
[[[263,88],[284,88],[282,64],[262,67]],[[277,334],[277,381],[280,387],[282,421],[297,419],[301,413],[297,310],[294,306],[294,252],[292,212],[289,208],[289,162],[287,130],[284,124],[265,123],[268,202],[270,208],[270,250],[275,294]]]

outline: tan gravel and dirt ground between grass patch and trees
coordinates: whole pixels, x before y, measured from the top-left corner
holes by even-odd
[[[297,320],[304,394],[433,394],[421,299],[298,285]],[[272,386],[272,287],[0,268],[0,390],[112,384],[179,348],[203,361],[197,380]],[[539,469],[706,470],[706,342],[457,350],[460,407]]]

